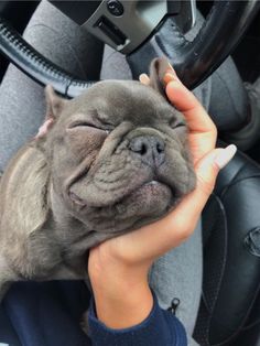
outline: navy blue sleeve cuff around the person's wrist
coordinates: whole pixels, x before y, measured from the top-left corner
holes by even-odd
[[[187,346],[183,325],[171,312],[159,306],[154,294],[149,316],[142,323],[124,329],[111,329],[98,321],[91,300],[88,327],[93,346]]]

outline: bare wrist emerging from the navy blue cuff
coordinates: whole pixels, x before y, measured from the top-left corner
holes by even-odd
[[[115,258],[100,261],[91,255],[89,259],[98,320],[110,328],[127,328],[145,320],[153,306],[148,266],[128,266]]]

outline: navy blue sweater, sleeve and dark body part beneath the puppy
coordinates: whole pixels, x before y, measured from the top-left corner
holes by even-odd
[[[90,338],[80,328],[88,310]],[[110,329],[97,320],[84,282],[15,283],[0,306],[0,344],[9,346],[186,346],[181,322],[160,309],[139,325]]]

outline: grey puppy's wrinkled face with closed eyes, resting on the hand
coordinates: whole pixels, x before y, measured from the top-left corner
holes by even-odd
[[[194,188],[184,118],[151,86],[107,80],[69,101],[47,98],[54,193],[88,229],[137,228]]]

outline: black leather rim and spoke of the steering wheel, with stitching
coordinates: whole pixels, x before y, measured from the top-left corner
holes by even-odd
[[[112,0],[113,3],[115,1],[120,3],[118,0]],[[193,0],[189,1],[194,2]],[[108,6],[109,2],[111,3],[111,0],[101,1],[101,3],[106,3],[107,10],[111,12]],[[140,1],[132,1],[132,3]],[[66,7],[69,7],[72,2],[58,1],[57,3],[67,3]],[[86,1],[78,1],[77,7],[86,9]],[[147,72],[153,57],[165,55],[174,65],[184,84],[188,88],[194,88],[207,78],[230,54],[259,9],[260,1],[258,0],[215,1],[203,28],[192,42],[185,39],[174,21],[176,13],[164,15],[150,35],[142,37],[143,42],[139,42],[137,47],[132,46],[127,52],[127,60],[133,78],[138,78],[140,73]],[[83,13],[80,8],[79,12]],[[175,10],[175,12],[177,11]],[[72,13],[73,11],[67,11],[66,14],[73,18]],[[102,24],[104,19],[107,18],[106,15],[108,17],[108,13],[105,12],[105,15],[102,14],[100,20],[95,22],[95,25]],[[109,15],[111,17],[111,13]],[[115,15],[115,19],[120,18],[120,15]],[[185,17],[187,13],[180,15]],[[115,30],[117,34],[118,28],[113,23],[105,28],[109,35],[115,35]],[[129,37],[124,33],[122,33],[121,40],[123,37],[126,39],[124,42],[129,42]],[[119,43],[121,44],[121,41]],[[79,80],[43,57],[3,19],[0,19],[0,52],[37,83],[42,85],[52,84],[59,94],[66,97],[77,96],[94,83]]]

